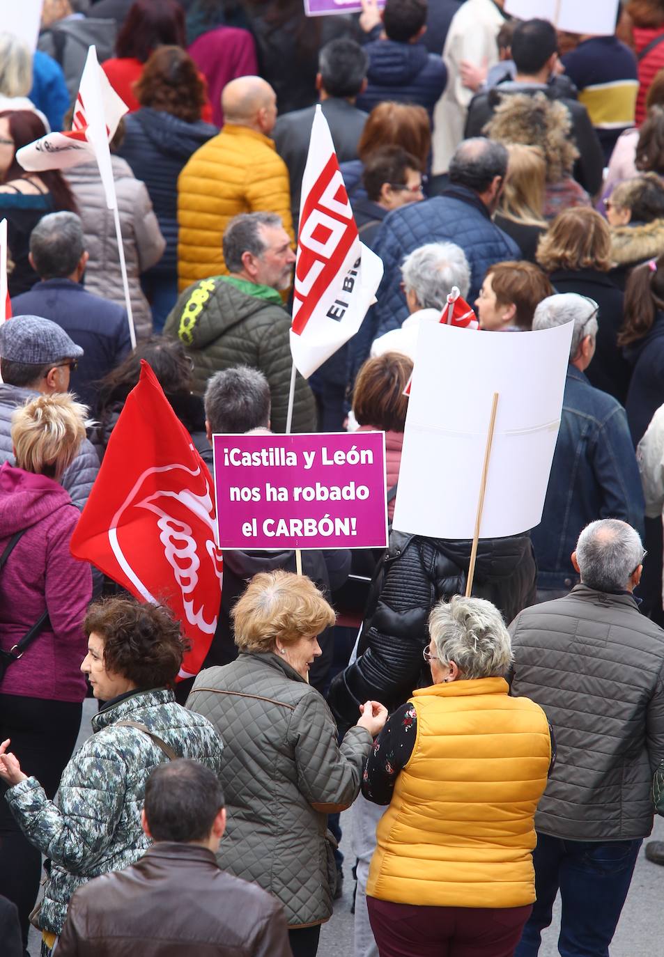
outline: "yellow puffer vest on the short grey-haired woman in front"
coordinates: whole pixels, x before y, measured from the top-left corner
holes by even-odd
[[[548,723],[507,682],[413,693],[417,738],[381,819],[366,893],[437,907],[535,900],[533,816],[551,762]]]

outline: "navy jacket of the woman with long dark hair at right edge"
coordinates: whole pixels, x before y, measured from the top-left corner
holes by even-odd
[[[635,448],[664,403],[664,313],[657,313],[647,336],[625,349],[625,358],[633,366],[625,408]]]

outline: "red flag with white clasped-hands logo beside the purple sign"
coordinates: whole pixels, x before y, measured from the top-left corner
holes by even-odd
[[[214,493],[154,372],[141,367],[71,550],[139,600],[170,608],[191,642],[179,676],[188,678],[208,654],[221,599]]]

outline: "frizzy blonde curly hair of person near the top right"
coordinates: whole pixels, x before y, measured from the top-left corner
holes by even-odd
[[[508,145],[539,146],[546,164],[546,182],[560,183],[569,175],[579,150],[569,137],[571,117],[563,103],[543,93],[502,97],[482,133]]]

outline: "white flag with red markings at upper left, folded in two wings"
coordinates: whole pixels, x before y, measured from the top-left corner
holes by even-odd
[[[115,209],[115,186],[108,143],[127,105],[108,82],[97,60],[94,46],[88,49],[71,132],[47,133],[41,139],[16,150],[16,159],[24,169],[67,169],[96,159],[109,210]]]

